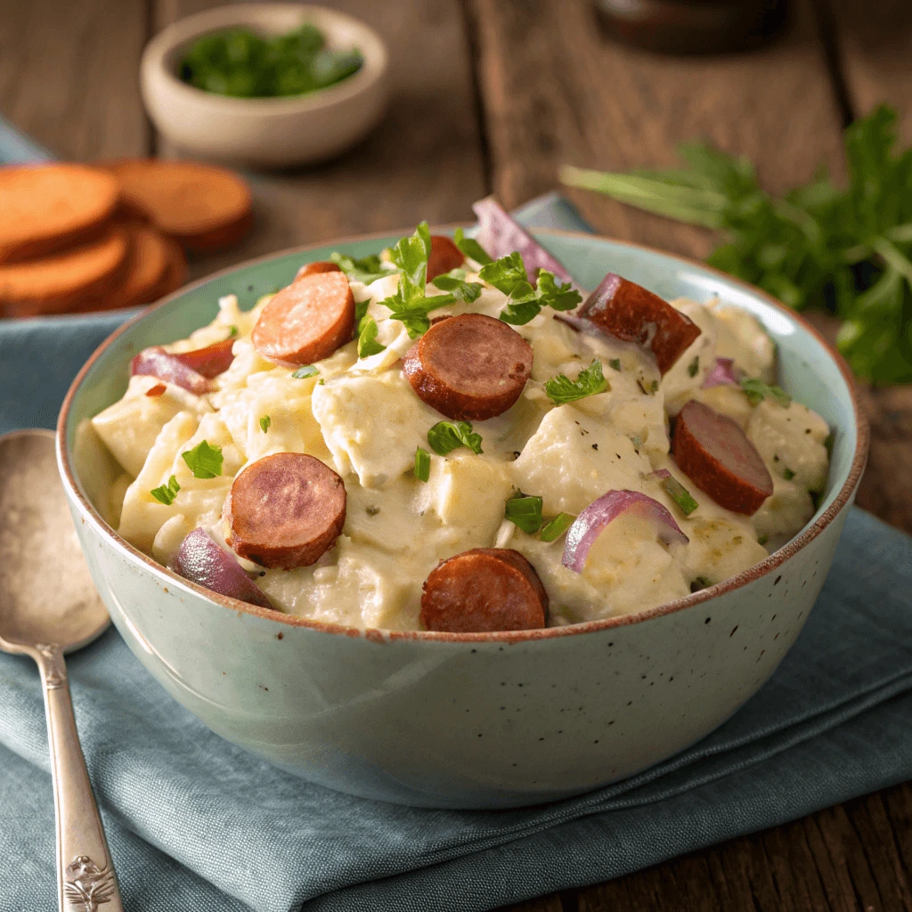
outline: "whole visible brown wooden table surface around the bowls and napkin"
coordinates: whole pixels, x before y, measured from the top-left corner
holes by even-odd
[[[140,105],[151,34],[210,0],[0,3],[0,111],[62,158],[170,154]],[[781,40],[725,57],[658,57],[613,44],[586,0],[337,0],[386,37],[389,117],[357,149],[306,171],[251,177],[257,229],[192,275],[256,254],[472,218],[554,188],[562,162],[665,166],[707,136],[782,190],[820,161],[845,171],[840,133],[887,100],[912,100],[907,0],[793,0]],[[912,111],[908,111],[912,115]],[[902,125],[912,141],[912,116]],[[709,233],[568,194],[602,233],[702,256]],[[912,388],[865,390],[874,449],[859,503],[912,531]],[[765,833],[523,912],[912,910],[912,788],[888,789]]]

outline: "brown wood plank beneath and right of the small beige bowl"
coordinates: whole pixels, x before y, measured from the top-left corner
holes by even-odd
[[[158,0],[153,21],[222,0]],[[486,192],[468,49],[455,0],[335,6],[389,44],[389,115],[356,149],[313,168],[249,175],[256,229],[243,246],[192,264],[194,275],[298,244],[347,234],[471,219]],[[173,150],[166,150],[172,153]]]

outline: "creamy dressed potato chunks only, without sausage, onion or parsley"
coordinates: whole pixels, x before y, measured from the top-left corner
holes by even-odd
[[[469,548],[512,547],[525,554],[548,593],[549,624],[558,625],[643,610],[719,582],[762,560],[813,515],[809,492],[824,490],[830,429],[798,403],[751,405],[741,389],[702,389],[717,357],[734,358],[751,377],[772,382],[775,376],[775,347],[762,326],[717,300],[673,302],[702,332],[664,378],[646,349],[576,332],[549,309],[515,327],[534,351],[522,396],[503,415],[474,423],[481,454],[431,452],[429,480],[420,482],[413,473],[416,448],[431,450],[428,430],[444,416],[421,401],[402,374],[399,358],[413,340],[378,303],[396,282],[392,275],[373,285],[352,283],[356,300],[370,302],[386,350],[359,359],[357,343],[349,343],[318,362],[310,378],[294,378],[254,350],[250,333],[268,298],[244,313],[227,295],[212,324],[166,346],[181,352],[230,334],[236,339],[233,364],[215,379],[214,392],[197,397],[168,384],[162,396],[150,398],[145,393],[159,381],[134,377],[124,397],[92,420],[122,470],[105,494],[105,512],[119,533],[161,563],[197,527],[223,543],[222,508],[235,475],[271,453],[306,452],[345,482],[343,533],[313,566],[264,571],[242,564],[259,574],[257,584],[275,607],[291,614],[417,629],[430,570]],[[437,293],[428,286],[429,295]],[[472,304],[444,306],[433,316],[496,317],[505,304],[501,292],[485,285]],[[574,379],[596,358],[609,389],[554,405],[545,382],[557,374]],[[668,455],[668,416],[688,399],[731,416],[761,453],[774,492],[753,517],[714,503]],[[201,440],[222,448],[223,474],[215,479],[194,478],[182,459]],[[654,476],[658,469],[687,488],[696,511],[681,512]],[[150,491],[171,475],[181,490],[171,505],[159,503]],[[622,517],[599,536],[576,574],[561,563],[564,536],[545,543],[504,520],[504,503],[517,491],[541,496],[547,519],[580,513],[612,489],[644,492],[663,503],[689,544],[662,544],[654,526]]]

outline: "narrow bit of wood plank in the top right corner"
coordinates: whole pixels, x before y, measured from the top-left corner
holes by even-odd
[[[900,135],[912,142],[912,5],[907,0],[829,0],[849,104],[855,115],[882,101],[900,114]]]

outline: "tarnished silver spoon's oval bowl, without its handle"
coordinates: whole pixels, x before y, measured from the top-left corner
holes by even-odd
[[[66,653],[108,628],[57,474],[54,433],[0,437],[0,648]]]

